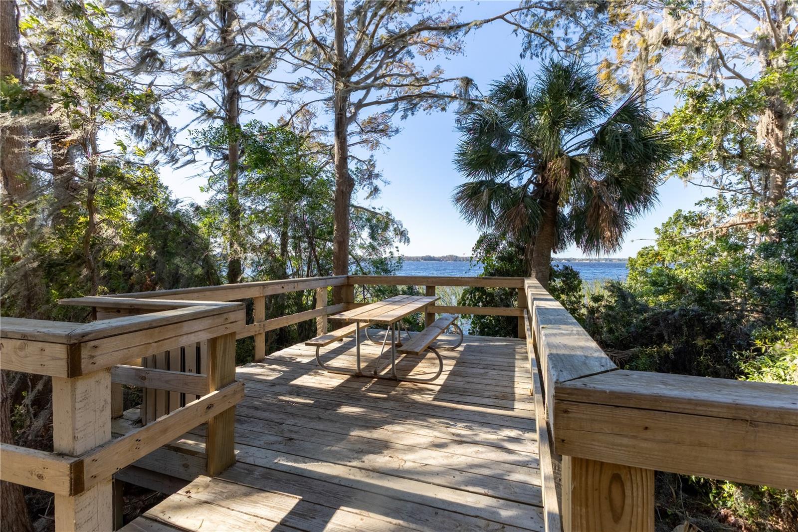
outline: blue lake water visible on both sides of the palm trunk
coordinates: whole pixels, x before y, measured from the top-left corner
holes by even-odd
[[[555,260],[554,264],[568,265],[574,268],[582,280],[626,280],[626,262],[600,262],[591,260]],[[401,276],[478,276],[482,273],[482,264],[457,260],[405,260],[399,275]]]

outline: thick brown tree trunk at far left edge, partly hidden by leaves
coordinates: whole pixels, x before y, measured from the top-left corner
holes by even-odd
[[[22,48],[19,46],[19,19],[16,0],[0,2],[0,77],[22,80]],[[11,201],[26,196],[28,152],[26,128],[10,125],[0,129],[0,176],[2,188]]]

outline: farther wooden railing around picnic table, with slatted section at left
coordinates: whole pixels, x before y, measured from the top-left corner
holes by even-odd
[[[136,316],[142,313],[155,312],[172,305],[191,301],[251,300],[254,320],[236,332],[236,339],[254,336],[254,358],[258,362],[266,356],[266,333],[307,320],[316,320],[317,331],[327,331],[328,316],[358,306],[355,303],[355,288],[362,286],[421,286],[425,292],[435,294],[438,286],[451,287],[486,287],[512,288],[518,290],[519,305],[514,308],[463,307],[437,305],[430,308],[425,316],[426,323],[432,323],[436,314],[459,313],[482,316],[515,316],[518,320],[518,334],[523,338],[526,334],[523,322],[523,307],[526,305],[523,290],[523,277],[449,277],[449,276],[330,276],[309,277],[303,279],[260,281],[255,283],[223,284],[200,288],[180,288],[176,290],[157,290],[152,292],[133,292],[113,296],[81,297],[61,300],[61,304],[81,305],[92,308],[95,320],[108,320],[120,316]],[[328,289],[342,287],[343,302],[328,304]],[[291,292],[314,290],[314,308],[266,319],[267,296],[276,296]],[[196,351],[196,354],[195,354]],[[141,366],[147,371],[140,371],[135,376],[128,375],[126,380],[112,386],[112,414],[114,418],[123,415],[123,384],[137,383],[143,387],[143,399],[140,407],[140,419],[143,423],[166,415],[188,403],[189,396],[184,391],[169,389],[167,385],[156,386],[156,376],[168,382],[168,372],[182,371],[204,374],[207,371],[207,343],[190,342],[172,349],[152,351],[152,355],[141,359]],[[128,370],[129,371],[129,370]],[[120,375],[120,370],[117,370]],[[192,397],[194,397],[192,395]]]

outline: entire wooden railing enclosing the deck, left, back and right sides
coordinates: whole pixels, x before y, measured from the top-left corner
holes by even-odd
[[[91,324],[4,318],[0,367],[53,376],[54,452],[3,445],[2,479],[55,493],[57,530],[110,530],[111,478],[122,467],[171,452],[159,447],[206,421],[200,466],[215,474],[234,459],[231,407],[243,396],[235,339],[255,336],[255,359],[263,359],[266,332],[306,320],[326,330],[331,314],[358,305],[356,287],[373,285],[427,294],[440,286],[519,290],[516,308],[437,305],[426,320],[444,312],[519,319],[551,532],[654,530],[654,470],[798,486],[796,387],[622,371],[535,280],[432,276],[332,276],[63,302],[92,307]],[[328,304],[330,287],[341,287],[342,302]],[[303,290],[315,291],[313,309],[266,320],[267,296]],[[255,305],[251,324],[243,304],[224,303],[246,299]],[[144,388],[151,415],[112,440],[125,384]]]

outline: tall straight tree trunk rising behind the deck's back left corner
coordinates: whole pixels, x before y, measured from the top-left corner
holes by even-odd
[[[333,0],[335,42],[335,64],[333,73],[335,77],[333,112],[334,112],[334,149],[335,162],[335,204],[334,204],[334,229],[333,229],[333,275],[346,276],[349,274],[349,244],[350,244],[350,204],[354,181],[349,173],[349,141],[346,138],[349,129],[347,115],[350,102],[350,93],[347,87],[346,50],[344,37],[344,2]],[[333,288],[333,303],[342,303],[343,289],[340,286]]]

